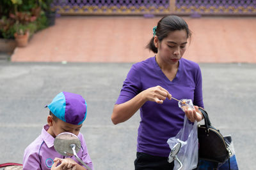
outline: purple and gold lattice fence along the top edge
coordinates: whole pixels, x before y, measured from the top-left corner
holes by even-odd
[[[54,0],[61,15],[256,15],[256,0]]]

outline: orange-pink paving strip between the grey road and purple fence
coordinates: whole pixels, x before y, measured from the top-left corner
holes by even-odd
[[[138,62],[160,17],[60,17],[37,32],[15,62]],[[195,62],[256,63],[255,17],[184,17],[193,32],[184,54]]]

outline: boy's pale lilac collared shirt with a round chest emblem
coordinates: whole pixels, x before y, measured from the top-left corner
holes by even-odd
[[[51,169],[54,163],[53,160],[56,157],[61,159],[67,158],[54,149],[54,138],[47,132],[48,129],[49,125],[44,125],[41,135],[26,148],[23,157],[23,170]],[[81,141],[81,150],[77,153],[77,156],[93,169],[92,160],[90,159],[83,134],[79,133],[77,137]],[[79,163],[74,156],[69,158]]]

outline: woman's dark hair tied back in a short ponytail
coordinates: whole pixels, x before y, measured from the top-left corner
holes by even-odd
[[[188,24],[180,17],[176,15],[168,15],[161,18],[157,23],[156,36],[161,42],[166,38],[170,31],[177,31],[184,29],[187,32],[188,38],[191,38],[191,31],[188,28]],[[154,45],[154,36],[150,39],[148,45],[146,46],[152,52],[157,53],[157,48]]]

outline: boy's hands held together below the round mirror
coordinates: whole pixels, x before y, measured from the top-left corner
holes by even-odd
[[[60,164],[58,166],[58,164]],[[77,162],[73,159],[66,158],[66,159],[60,159],[55,158],[54,164],[51,167],[51,170],[76,170]]]

